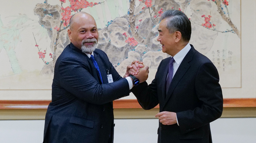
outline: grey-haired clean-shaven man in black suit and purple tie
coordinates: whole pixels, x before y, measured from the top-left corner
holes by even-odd
[[[183,12],[164,12],[158,31],[171,57],[161,61],[151,84],[143,82],[132,92],[143,109],[159,104],[158,143],[212,143],[209,123],[223,110],[218,71],[189,44],[191,23]]]

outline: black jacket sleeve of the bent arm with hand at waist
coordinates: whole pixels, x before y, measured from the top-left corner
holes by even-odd
[[[201,107],[177,112],[182,133],[191,132],[221,117],[223,97],[216,67],[207,62],[202,64],[195,79],[195,92]]]

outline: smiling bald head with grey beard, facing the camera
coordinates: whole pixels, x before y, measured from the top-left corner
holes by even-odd
[[[67,32],[73,45],[85,53],[92,53],[99,38],[97,25],[93,17],[87,13],[77,13],[73,16],[73,23],[70,28]]]

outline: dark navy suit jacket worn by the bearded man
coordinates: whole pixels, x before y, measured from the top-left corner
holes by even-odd
[[[113,100],[129,95],[129,84],[106,53],[96,49],[103,84],[93,62],[72,43],[58,57],[52,102],[45,118],[44,143],[112,143]],[[108,83],[107,72],[113,83]]]

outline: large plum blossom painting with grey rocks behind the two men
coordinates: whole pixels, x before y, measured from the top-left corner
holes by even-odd
[[[119,74],[143,61],[150,83],[169,57],[157,36],[161,14],[172,9],[191,21],[189,43],[215,64],[221,87],[241,87],[241,0],[9,0],[0,7],[0,92],[51,90],[56,59],[70,43],[70,17],[79,11],[96,20],[97,48]]]

